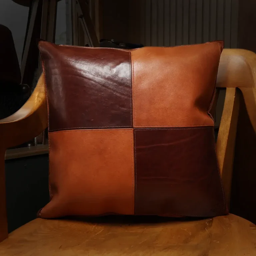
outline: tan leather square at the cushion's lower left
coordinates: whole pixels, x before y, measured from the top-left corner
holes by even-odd
[[[133,129],[50,132],[50,193],[42,218],[134,214]]]

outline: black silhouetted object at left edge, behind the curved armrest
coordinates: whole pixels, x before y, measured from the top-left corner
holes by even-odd
[[[3,119],[24,105],[30,88],[20,84],[20,66],[12,32],[0,24],[0,35],[0,119]]]

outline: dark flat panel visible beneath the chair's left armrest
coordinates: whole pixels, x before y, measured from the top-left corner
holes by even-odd
[[[48,154],[5,161],[9,233],[35,219],[49,202],[48,166]]]

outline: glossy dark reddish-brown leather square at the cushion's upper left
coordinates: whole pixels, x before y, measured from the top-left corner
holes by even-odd
[[[39,45],[49,130],[132,127],[130,52]]]

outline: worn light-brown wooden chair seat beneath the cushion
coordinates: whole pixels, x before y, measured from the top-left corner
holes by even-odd
[[[157,216],[35,219],[0,243],[1,256],[256,255],[256,225],[233,214],[179,220]]]

